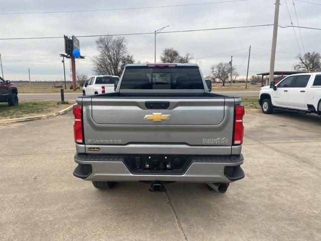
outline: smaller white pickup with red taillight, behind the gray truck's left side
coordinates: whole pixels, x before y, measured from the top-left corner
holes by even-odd
[[[115,91],[115,81],[119,81],[118,76],[96,75],[91,77],[82,88],[83,95],[103,94]]]

